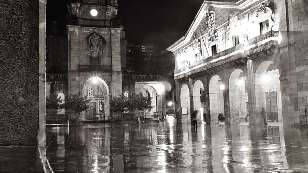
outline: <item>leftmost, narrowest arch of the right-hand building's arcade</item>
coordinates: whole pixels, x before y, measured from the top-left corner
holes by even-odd
[[[182,121],[190,122],[190,96],[187,84],[183,84],[180,93]]]

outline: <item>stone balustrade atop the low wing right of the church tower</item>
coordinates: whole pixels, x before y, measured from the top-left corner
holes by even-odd
[[[165,77],[162,75],[136,75],[136,74],[122,74],[123,81],[164,81]]]

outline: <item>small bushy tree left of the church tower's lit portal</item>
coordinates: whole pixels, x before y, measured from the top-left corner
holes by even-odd
[[[90,108],[88,103],[91,99],[88,99],[86,96],[82,96],[80,93],[73,94],[70,98],[65,101],[65,108],[74,111],[76,114],[76,122],[79,124],[79,115],[80,112],[86,111]]]

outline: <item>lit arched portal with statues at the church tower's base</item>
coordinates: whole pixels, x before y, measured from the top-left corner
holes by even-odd
[[[88,79],[83,85],[82,95],[91,99],[89,110],[83,112],[84,121],[95,120],[96,115],[109,115],[109,89],[104,80],[99,77]]]

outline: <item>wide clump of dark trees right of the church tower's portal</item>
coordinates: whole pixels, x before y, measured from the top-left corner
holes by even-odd
[[[153,106],[151,105],[152,98],[143,96],[142,93],[135,94],[129,93],[127,95],[120,95],[116,96],[112,100],[112,110],[115,112],[129,111],[129,120],[130,120],[130,113],[133,110],[145,111],[146,109],[152,109]]]

